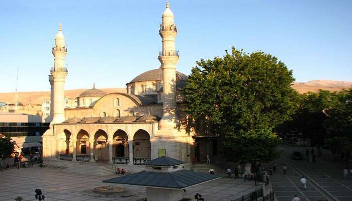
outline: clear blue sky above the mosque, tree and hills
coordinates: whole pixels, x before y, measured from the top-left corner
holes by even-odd
[[[262,50],[293,69],[296,81],[352,81],[352,1],[171,0],[179,71],[231,46]],[[125,87],[158,68],[165,1],[1,1],[0,92],[50,90],[58,22],[68,46],[66,89]]]

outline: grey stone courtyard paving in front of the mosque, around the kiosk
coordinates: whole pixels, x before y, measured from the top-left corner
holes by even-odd
[[[22,196],[24,200],[36,200],[34,190],[39,188],[45,195],[45,201],[71,200],[124,200],[135,201],[146,197],[145,187],[119,185],[128,188],[135,196],[130,197],[93,197],[81,193],[83,190],[93,189],[97,186],[108,185],[102,180],[114,177],[90,176],[62,172],[60,169],[30,167],[0,171],[0,200],[15,200]],[[242,179],[221,178],[208,183],[187,188],[184,197],[193,197],[196,192],[203,195],[207,201],[231,200],[247,194],[258,186],[252,181],[244,182]]]

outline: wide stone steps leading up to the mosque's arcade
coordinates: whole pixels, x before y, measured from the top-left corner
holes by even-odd
[[[106,163],[82,162],[72,167],[66,168],[63,172],[74,174],[87,174],[95,176],[114,175],[115,169]]]

